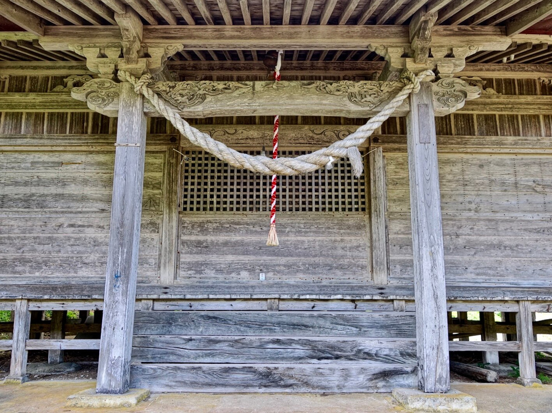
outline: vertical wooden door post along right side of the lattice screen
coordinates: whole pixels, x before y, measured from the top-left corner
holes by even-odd
[[[386,189],[383,150],[376,147],[370,162],[370,225],[374,284],[387,284],[389,277],[388,234],[385,225]]]

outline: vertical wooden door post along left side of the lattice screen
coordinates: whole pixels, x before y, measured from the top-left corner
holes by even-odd
[[[167,148],[163,176],[163,232],[160,248],[160,282],[174,284],[176,278],[180,154]]]

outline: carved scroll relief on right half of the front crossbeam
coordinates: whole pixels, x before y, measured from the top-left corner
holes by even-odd
[[[335,96],[347,95],[349,102],[360,107],[373,109],[388,100],[392,94],[404,86],[399,82],[353,82],[353,81],[314,81],[305,84],[305,88],[316,88],[317,92]]]

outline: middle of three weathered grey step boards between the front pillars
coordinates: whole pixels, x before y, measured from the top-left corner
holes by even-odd
[[[134,336],[132,362],[415,364],[411,339]]]

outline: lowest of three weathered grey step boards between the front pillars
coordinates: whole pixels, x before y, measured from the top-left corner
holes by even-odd
[[[131,386],[151,391],[214,393],[389,392],[416,383],[416,366],[402,364],[138,364]]]

